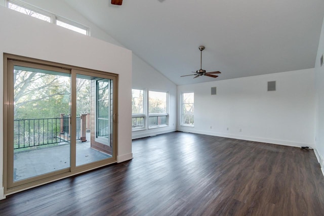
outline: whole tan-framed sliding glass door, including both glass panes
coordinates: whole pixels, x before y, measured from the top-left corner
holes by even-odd
[[[4,87],[6,190],[115,162],[117,76],[14,57]]]

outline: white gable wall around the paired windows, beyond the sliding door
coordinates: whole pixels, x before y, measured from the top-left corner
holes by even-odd
[[[177,125],[177,86],[153,67],[133,56],[133,89],[148,91],[169,92],[169,126],[134,131],[132,138],[141,138],[151,135],[176,131]]]

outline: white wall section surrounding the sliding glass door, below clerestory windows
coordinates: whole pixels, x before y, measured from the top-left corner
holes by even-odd
[[[102,40],[0,7],[0,84],[3,53],[119,74],[117,161],[132,158],[132,52]],[[4,103],[0,88],[0,103]],[[0,106],[0,199],[3,191],[3,106]]]

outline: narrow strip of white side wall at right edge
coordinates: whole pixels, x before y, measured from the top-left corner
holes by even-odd
[[[324,21],[315,62],[315,153],[324,175],[324,64],[320,66],[320,57],[323,54]]]

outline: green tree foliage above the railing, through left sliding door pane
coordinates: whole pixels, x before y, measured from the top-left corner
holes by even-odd
[[[15,119],[53,118],[69,113],[69,85],[69,77],[15,70]]]

